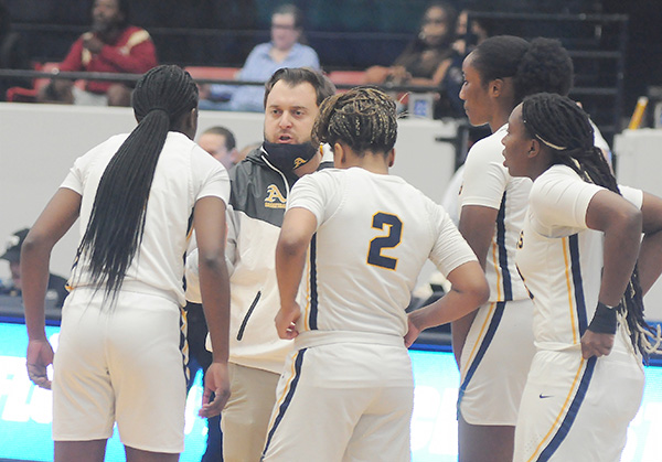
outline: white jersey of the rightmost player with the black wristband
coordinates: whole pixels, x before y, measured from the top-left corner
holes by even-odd
[[[516,259],[533,296],[538,348],[578,345],[592,319],[600,289],[604,235],[587,227],[586,211],[602,190],[566,165],[553,165],[533,183]],[[641,191],[620,190],[641,207]]]

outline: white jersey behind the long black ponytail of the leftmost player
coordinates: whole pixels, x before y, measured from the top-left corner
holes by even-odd
[[[83,196],[81,235],[85,234],[99,181],[108,162],[128,135],[114,136],[78,158],[61,187]],[[193,205],[205,196],[229,200],[229,179],[221,162],[185,135],[171,131],[159,157],[151,185],[145,234],[127,269],[122,287],[171,298],[184,305],[184,255]],[[70,283],[90,283],[86,268],[77,266]]]

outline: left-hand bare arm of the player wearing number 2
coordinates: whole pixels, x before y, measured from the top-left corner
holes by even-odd
[[[276,244],[276,278],[280,292],[280,310],[275,321],[278,336],[281,339],[293,339],[298,335],[295,326],[300,315],[297,294],[308,246],[316,229],[317,218],[312,212],[301,207],[286,212]]]

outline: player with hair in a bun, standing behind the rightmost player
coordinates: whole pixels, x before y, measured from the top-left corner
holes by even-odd
[[[467,157],[459,229],[485,270],[490,300],[452,323],[460,366],[459,460],[511,462],[517,408],[534,354],[533,305],[515,268],[515,244],[531,187],[503,166],[508,116],[531,93],[567,94],[573,63],[557,41],[487,39],[462,64],[460,98],[471,125],[492,135]],[[506,359],[505,359],[506,358]]]

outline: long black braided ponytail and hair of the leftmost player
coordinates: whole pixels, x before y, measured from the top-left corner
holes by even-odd
[[[138,126],[119,147],[99,182],[74,266],[87,266],[92,282],[114,299],[142,240],[154,171],[168,131],[197,107],[191,75],[174,65],[148,71],[131,105]]]

